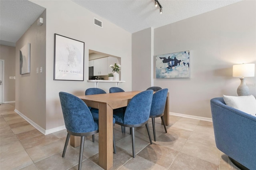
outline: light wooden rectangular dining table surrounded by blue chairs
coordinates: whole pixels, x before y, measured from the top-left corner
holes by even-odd
[[[141,91],[78,96],[88,107],[99,109],[99,165],[105,170],[113,166],[113,109],[125,107]],[[169,125],[169,93],[164,109],[164,121]],[[80,145],[79,136],[70,136],[70,145]]]

